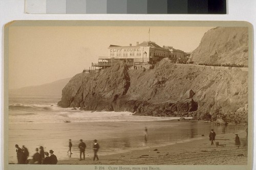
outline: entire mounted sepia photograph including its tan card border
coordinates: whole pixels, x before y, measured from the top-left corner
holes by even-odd
[[[251,32],[239,21],[8,23],[5,163],[248,169]]]

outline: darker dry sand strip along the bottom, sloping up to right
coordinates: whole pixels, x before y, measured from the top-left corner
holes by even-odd
[[[210,145],[208,136],[196,138],[191,141],[179,142],[165,147],[154,147],[143,150],[134,150],[121,154],[100,155],[99,161],[93,161],[87,157],[79,161],[79,153],[73,157],[77,159],[60,160],[58,164],[100,164],[100,165],[246,165],[247,145],[246,134],[238,133],[241,147],[234,145],[234,134],[222,134],[216,136],[220,146]],[[154,151],[155,150],[155,151]],[[238,156],[241,155],[241,156]]]

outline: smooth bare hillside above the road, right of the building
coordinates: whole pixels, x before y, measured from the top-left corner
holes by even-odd
[[[248,28],[217,27],[207,31],[191,53],[191,61],[248,65]]]

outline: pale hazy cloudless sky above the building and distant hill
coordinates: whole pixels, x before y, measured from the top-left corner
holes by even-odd
[[[108,56],[110,44],[148,41],[149,28],[151,41],[191,52],[212,27],[10,27],[9,89],[71,78]]]

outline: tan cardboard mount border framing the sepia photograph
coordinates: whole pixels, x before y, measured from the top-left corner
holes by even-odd
[[[253,164],[253,34],[252,25],[246,21],[148,21],[148,20],[17,20],[11,21],[4,28],[4,168],[5,169],[95,169],[95,166],[119,167],[119,165],[17,165],[8,164],[8,55],[9,28],[26,26],[110,26],[110,27],[247,27],[248,28],[248,164],[247,165],[151,165],[165,169],[252,169]],[[249,114],[251,113],[251,114]],[[148,167],[147,165],[123,165],[123,167]]]

